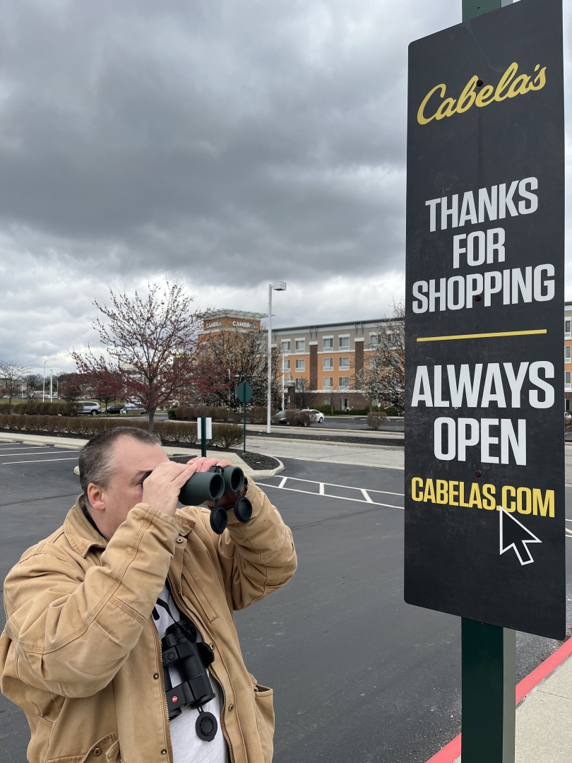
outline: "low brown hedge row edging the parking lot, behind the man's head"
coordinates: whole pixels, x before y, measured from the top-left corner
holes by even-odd
[[[146,421],[121,420],[121,427],[139,427],[148,429]],[[99,417],[78,416],[19,416],[18,414],[0,414],[0,430],[29,432],[34,434],[75,434],[90,437],[98,432],[117,427],[117,420]],[[197,425],[191,422],[156,421],[155,432],[161,442],[174,445],[194,445],[197,442]],[[234,424],[213,424],[212,445],[232,448],[243,439],[243,431]]]

